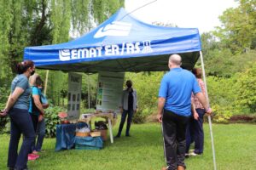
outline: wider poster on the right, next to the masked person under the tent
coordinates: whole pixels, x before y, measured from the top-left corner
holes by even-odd
[[[119,112],[121,105],[124,72],[99,72],[96,109]]]

